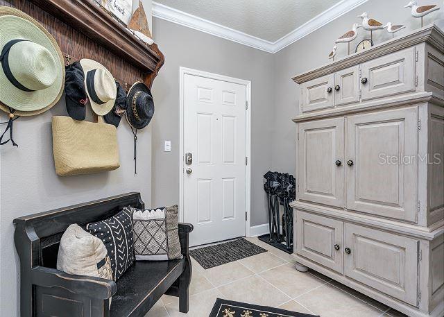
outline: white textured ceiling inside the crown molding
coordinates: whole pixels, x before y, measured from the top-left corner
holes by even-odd
[[[155,0],[165,6],[275,42],[339,0]]]

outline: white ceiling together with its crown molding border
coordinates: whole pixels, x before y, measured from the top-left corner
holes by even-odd
[[[153,17],[276,53],[368,0],[155,0]]]

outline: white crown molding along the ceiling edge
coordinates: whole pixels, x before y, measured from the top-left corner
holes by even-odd
[[[276,53],[281,49],[293,44],[297,40],[300,40],[302,37],[309,35],[311,32],[316,31],[318,28],[325,26],[325,24],[332,22],[334,19],[341,17],[341,15],[344,15],[350,10],[357,8],[357,6],[360,6],[366,1],[368,0],[339,1],[339,3],[336,3],[336,5],[332,6],[332,8],[325,10],[321,14],[317,15],[305,24],[302,24],[302,26],[299,26],[275,42],[270,42],[260,39],[259,37],[248,35],[232,28],[228,28],[227,26],[216,24],[206,19],[196,17],[195,15],[190,15],[189,13],[165,6],[155,1],[153,1],[153,17],[164,19],[182,26],[187,26],[188,28],[193,28],[194,30],[208,33],[217,37],[222,37],[225,40],[244,44],[261,51]]]

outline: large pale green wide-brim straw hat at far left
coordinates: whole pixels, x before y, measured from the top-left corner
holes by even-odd
[[[0,109],[10,112],[12,108],[19,116],[40,114],[53,107],[62,96],[65,86],[62,51],[35,19],[15,8],[0,6],[0,52],[15,40],[17,43],[8,51],[8,67],[12,76],[19,74],[15,79],[26,90],[11,82],[1,62]]]

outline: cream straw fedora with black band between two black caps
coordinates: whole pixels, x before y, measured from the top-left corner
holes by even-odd
[[[112,110],[117,97],[114,77],[101,63],[83,58],[80,65],[85,73],[85,87],[92,111],[104,116]],[[89,81],[91,80],[91,81]]]

